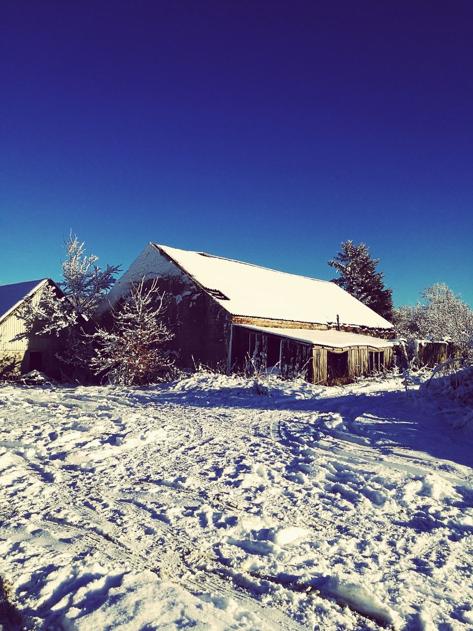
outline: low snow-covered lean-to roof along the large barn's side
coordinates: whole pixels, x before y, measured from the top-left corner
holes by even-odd
[[[248,324],[234,324],[233,326],[252,329],[258,333],[272,333],[284,338],[296,339],[299,342],[307,342],[315,346],[329,346],[330,348],[347,348],[350,346],[370,346],[371,348],[388,348],[394,346],[392,340],[372,338],[369,335],[358,333],[346,333],[329,329],[328,331],[314,331],[312,329],[281,329],[277,327],[253,326]]]

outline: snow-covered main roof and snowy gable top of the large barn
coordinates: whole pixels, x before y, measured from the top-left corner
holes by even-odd
[[[185,273],[231,315],[392,329],[392,324],[329,281],[149,243],[107,295],[99,312],[129,293],[130,280]]]

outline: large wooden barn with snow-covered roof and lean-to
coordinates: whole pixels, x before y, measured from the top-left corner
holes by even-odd
[[[335,283],[149,243],[96,314],[104,326],[130,281],[159,279],[182,367],[275,370],[315,384],[383,372],[390,322]]]

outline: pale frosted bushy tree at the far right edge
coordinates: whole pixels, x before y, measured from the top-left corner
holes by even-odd
[[[406,339],[450,338],[463,355],[473,356],[473,309],[445,283],[426,287],[413,307],[395,309],[394,324]]]

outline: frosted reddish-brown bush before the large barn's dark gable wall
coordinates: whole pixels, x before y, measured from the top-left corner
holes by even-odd
[[[100,328],[93,336],[95,375],[122,386],[147,386],[172,377],[174,362],[163,345],[173,334],[163,322],[163,297],[157,280],[149,288],[144,278],[138,285],[131,283],[129,297],[112,309],[112,331]]]

